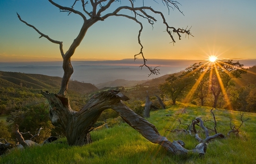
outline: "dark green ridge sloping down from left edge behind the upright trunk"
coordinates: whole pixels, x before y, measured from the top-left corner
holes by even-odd
[[[60,84],[61,77],[0,71],[0,86],[2,87],[26,87],[50,90],[58,89]],[[90,83],[81,83],[79,81],[69,81],[69,89],[82,94],[98,90],[97,87]]]

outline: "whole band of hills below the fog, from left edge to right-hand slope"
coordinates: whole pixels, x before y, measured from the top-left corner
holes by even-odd
[[[102,89],[104,87],[134,87],[135,85],[159,85],[164,83],[169,75],[160,76],[151,80],[124,80],[117,79],[93,85],[90,83],[81,83],[79,81],[69,81],[68,89],[75,90],[78,93],[86,94],[89,92]],[[0,87],[13,87],[13,88],[33,88],[48,90],[59,89],[61,85],[61,77],[47,76],[40,74],[24,74],[20,72],[5,72],[0,71]]]

